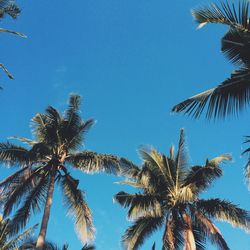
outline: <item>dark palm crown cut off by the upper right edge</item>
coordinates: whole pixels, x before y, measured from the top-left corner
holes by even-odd
[[[217,87],[173,107],[174,112],[184,112],[199,118],[203,112],[206,118],[225,118],[227,115],[238,114],[250,103],[250,19],[249,1],[234,3],[211,4],[208,7],[194,9],[192,15],[200,24],[224,24],[229,27],[221,40],[221,50],[238,69]]]

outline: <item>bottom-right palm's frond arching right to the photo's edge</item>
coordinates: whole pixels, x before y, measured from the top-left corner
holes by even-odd
[[[229,201],[220,199],[199,200],[196,209],[208,217],[226,221],[235,227],[250,229],[249,212]]]

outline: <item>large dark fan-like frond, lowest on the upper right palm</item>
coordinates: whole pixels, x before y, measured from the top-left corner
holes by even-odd
[[[184,112],[199,118],[204,112],[207,119],[237,115],[250,103],[250,69],[241,68],[217,87],[188,98],[175,105],[173,112]],[[207,111],[204,111],[207,108]]]

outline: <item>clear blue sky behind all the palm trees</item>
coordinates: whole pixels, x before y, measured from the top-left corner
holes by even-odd
[[[1,141],[12,135],[30,137],[30,120],[37,112],[48,105],[63,111],[69,93],[76,92],[83,97],[83,117],[97,120],[85,148],[140,163],[138,146],[150,144],[167,153],[184,127],[191,164],[233,154],[224,176],[203,197],[230,199],[249,210],[246,158],[240,154],[246,147],[243,136],[250,134],[250,110],[220,122],[170,113],[174,104],[217,85],[233,69],[220,53],[225,28],[208,25],[197,31],[191,17],[191,8],[209,2],[20,1],[21,16],[1,23],[28,36],[1,34],[1,62],[15,77],[10,81],[2,73],[0,78]],[[2,177],[10,172],[1,168]],[[113,184],[119,180],[115,176],[73,172],[93,210],[97,249],[122,249],[120,237],[129,222],[112,196],[125,187]],[[80,249],[60,193],[55,196],[48,239]],[[40,219],[37,215],[31,223]],[[249,249],[249,234],[218,225],[231,249]],[[154,235],[142,249],[160,237]]]

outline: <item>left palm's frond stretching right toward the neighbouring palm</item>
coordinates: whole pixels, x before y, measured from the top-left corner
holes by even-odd
[[[110,174],[120,173],[120,160],[114,155],[84,151],[70,155],[66,161],[86,173],[103,171]]]

